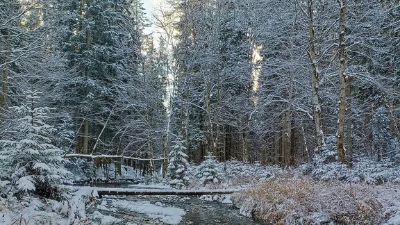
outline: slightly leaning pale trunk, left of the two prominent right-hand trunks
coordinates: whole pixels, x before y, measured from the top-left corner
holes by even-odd
[[[313,108],[314,108],[314,122],[315,131],[317,135],[317,151],[325,144],[324,131],[322,128],[322,110],[321,101],[319,99],[319,69],[318,58],[315,53],[315,30],[313,19],[313,0],[308,0],[308,58],[311,67],[311,87],[313,88]]]

